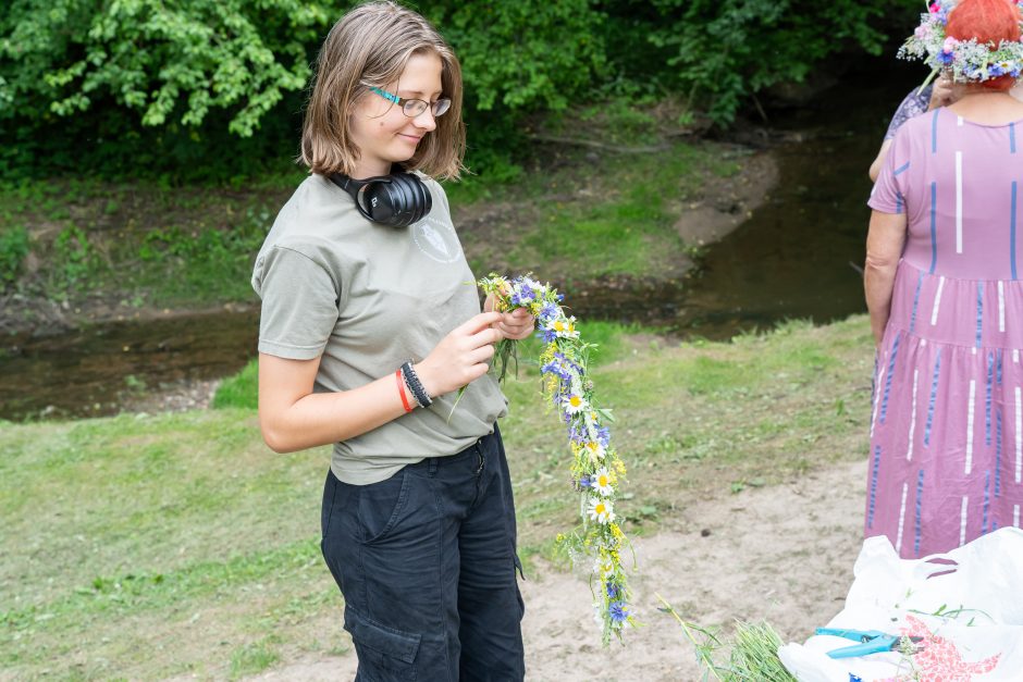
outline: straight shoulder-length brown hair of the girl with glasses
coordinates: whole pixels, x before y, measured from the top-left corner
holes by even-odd
[[[457,178],[465,168],[466,150],[461,65],[436,28],[394,2],[360,4],[328,34],[306,108],[301,162],[321,175],[352,173],[359,158],[348,123],[352,107],[371,87],[383,88],[397,80],[409,58],[424,53],[441,59],[441,84],[452,104],[404,166],[439,179]]]

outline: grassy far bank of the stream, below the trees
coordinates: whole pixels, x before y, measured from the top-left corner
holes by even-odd
[[[448,185],[453,218],[474,272],[533,272],[571,290],[587,315],[614,308],[623,293],[685,286],[703,249],[738,226],[778,177],[768,154],[722,142],[675,140],[656,153],[546,151],[514,182],[470,176]],[[301,177],[296,169],[239,188],[93,181],[0,188],[4,235],[24,236],[0,239],[11,251],[0,255],[0,275],[10,280],[0,288],[4,345],[255,306],[251,260]]]

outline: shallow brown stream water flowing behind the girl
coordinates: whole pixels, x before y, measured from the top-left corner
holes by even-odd
[[[904,66],[845,79],[805,107],[772,113],[780,182],[741,227],[714,245],[685,283],[601,292],[587,318],[627,319],[679,335],[727,338],[809,318],[864,310],[870,214],[866,170],[895,107],[920,73]],[[634,313],[633,313],[634,314]],[[133,396],[229,375],[255,356],[256,312],[116,322],[0,346],[0,419],[120,411]]]

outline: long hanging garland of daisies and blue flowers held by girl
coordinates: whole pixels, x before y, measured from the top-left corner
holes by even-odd
[[[630,544],[615,513],[617,489],[625,480],[626,469],[611,445],[611,431],[604,425],[613,421],[611,412],[596,407],[593,399],[593,381],[587,365],[594,346],[582,340],[576,318],[565,314],[560,306],[563,296],[549,284],[540,284],[529,275],[509,281],[496,274],[478,284],[494,296],[495,310],[510,312],[525,308],[537,318],[538,336],[543,340],[540,354],[543,390],[568,429],[571,482],[579,494],[582,518],[581,526],[570,533],[559,533],[557,543],[568,550],[572,563],[580,556],[592,559],[593,608],[606,645],[612,634],[620,638],[626,623],[636,625],[636,621],[630,607],[631,592],[621,566],[621,551]],[[504,377],[514,354],[514,340],[503,339],[497,344],[498,379]]]

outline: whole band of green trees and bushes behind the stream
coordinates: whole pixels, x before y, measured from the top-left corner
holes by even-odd
[[[530,114],[609,96],[681,96],[727,124],[752,95],[801,80],[837,52],[876,53],[886,13],[912,17],[917,2],[422,4],[464,65],[469,166],[514,179]],[[0,175],[238,183],[294,157],[310,64],[350,2],[9,5],[0,13]]]

